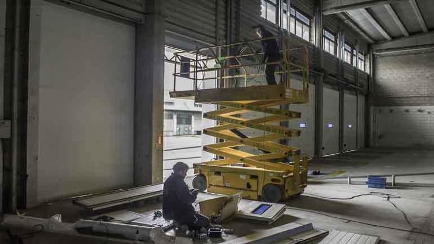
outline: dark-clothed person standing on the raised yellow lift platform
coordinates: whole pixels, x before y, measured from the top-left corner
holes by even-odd
[[[261,25],[253,27],[253,30],[257,36],[261,39],[272,37],[273,35]],[[279,46],[277,45],[276,39],[262,40],[262,51],[264,52],[263,63],[279,62],[282,57],[280,55]],[[267,78],[268,85],[276,85],[276,78],[274,72],[278,64],[267,64],[265,66],[265,76]]]

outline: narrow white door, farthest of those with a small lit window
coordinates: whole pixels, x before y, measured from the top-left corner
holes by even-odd
[[[351,151],[357,149],[357,96],[347,93],[344,93],[343,146],[343,151]]]

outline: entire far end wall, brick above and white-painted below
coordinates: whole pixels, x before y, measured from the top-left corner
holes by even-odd
[[[376,57],[375,146],[434,146],[434,52]]]

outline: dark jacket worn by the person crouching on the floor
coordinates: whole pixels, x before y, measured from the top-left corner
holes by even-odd
[[[180,221],[186,216],[195,214],[191,205],[196,196],[190,193],[184,178],[179,174],[173,174],[166,179],[163,187],[163,217]]]

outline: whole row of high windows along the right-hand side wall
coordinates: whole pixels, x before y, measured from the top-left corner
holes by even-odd
[[[284,13],[282,16],[282,28],[285,30],[289,29],[290,33],[297,35],[307,41],[311,41],[311,18],[292,7],[289,8],[290,10],[288,14],[287,0],[283,0],[282,8]],[[279,16],[278,14],[276,14],[277,9],[278,0],[261,0],[261,17],[274,24],[277,24],[278,22],[277,19]],[[332,32],[329,32],[328,30],[324,30],[323,47],[326,52],[336,56],[338,51],[337,36],[334,35]],[[356,49],[348,43],[345,43],[344,45],[343,60],[349,64],[354,65],[360,70],[365,70],[364,54],[360,52],[359,57],[357,57]]]

